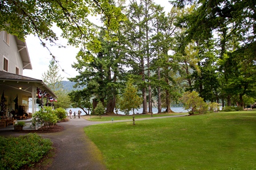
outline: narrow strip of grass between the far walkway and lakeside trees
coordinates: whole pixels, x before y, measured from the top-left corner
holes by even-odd
[[[153,117],[165,117],[170,115],[188,115],[188,113],[161,113],[161,114],[153,114]],[[141,118],[151,118],[151,114],[135,114],[135,115],[102,115],[99,118],[98,115],[83,115],[82,117],[85,118],[87,121],[93,122],[105,122],[105,121],[123,121],[123,120],[132,120],[133,116],[135,119]]]

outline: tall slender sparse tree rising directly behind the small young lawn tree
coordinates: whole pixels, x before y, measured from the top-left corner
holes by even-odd
[[[142,2],[138,4],[133,0],[130,2],[127,10],[127,22],[125,23],[126,30],[123,33],[126,36],[127,59],[130,67],[133,68],[130,73],[137,74],[139,89],[142,91],[143,103],[142,113],[147,113],[147,94],[146,94],[146,56],[145,56],[145,10]],[[135,77],[134,77],[135,78]]]

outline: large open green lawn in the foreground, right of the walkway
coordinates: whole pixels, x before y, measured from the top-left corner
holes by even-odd
[[[256,112],[85,127],[108,169],[256,169]]]

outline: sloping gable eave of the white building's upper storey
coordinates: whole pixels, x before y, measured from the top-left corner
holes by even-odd
[[[18,52],[19,55],[21,55],[21,60],[23,63],[23,69],[32,69],[30,57],[29,57],[29,52],[27,51],[27,44],[26,42],[22,42],[22,40],[19,40],[17,36],[14,36],[17,47],[18,47]]]

